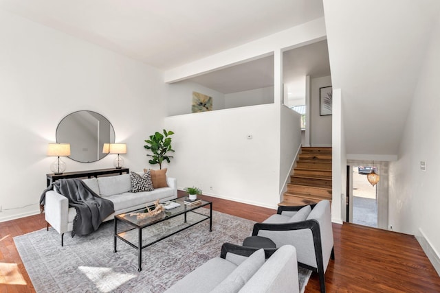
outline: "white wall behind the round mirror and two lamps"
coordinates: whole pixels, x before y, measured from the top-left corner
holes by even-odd
[[[148,165],[144,139],[163,127],[165,85],[160,71],[67,34],[0,10],[0,221],[39,213],[58,122],[94,110],[127,143],[125,164]],[[65,159],[67,170],[113,167]]]

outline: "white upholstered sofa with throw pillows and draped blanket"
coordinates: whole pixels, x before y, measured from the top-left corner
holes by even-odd
[[[139,172],[138,174],[142,173]],[[112,220],[114,215],[119,213],[141,209],[146,204],[153,204],[158,199],[164,202],[177,198],[177,180],[170,177],[166,178],[168,187],[136,193],[129,192],[131,189],[130,174],[89,178],[83,179],[83,181],[96,194],[113,202],[115,212],[105,218],[104,221]],[[46,192],[45,220],[61,234],[62,246],[64,233],[73,229],[75,215],[76,209],[69,208],[69,202],[65,196],[54,190]]]

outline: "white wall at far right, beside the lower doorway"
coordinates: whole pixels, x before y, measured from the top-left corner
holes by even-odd
[[[389,223],[394,231],[415,235],[440,274],[440,19],[406,115],[398,161],[390,167]],[[426,162],[426,171],[420,169]]]

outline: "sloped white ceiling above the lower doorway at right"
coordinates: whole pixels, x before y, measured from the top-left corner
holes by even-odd
[[[324,0],[348,154],[398,154],[438,0]]]

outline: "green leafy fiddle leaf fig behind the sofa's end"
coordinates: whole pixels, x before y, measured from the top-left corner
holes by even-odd
[[[150,139],[146,139],[144,148],[146,150],[151,150],[153,154],[147,154],[151,156],[151,160],[148,161],[151,165],[159,164],[159,169],[162,169],[163,161],[170,163],[170,159],[173,156],[168,155],[168,152],[175,152],[171,146],[170,135],[174,134],[173,131],[163,130],[163,134],[160,132],[155,132],[155,134],[150,135]]]

